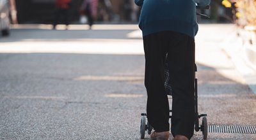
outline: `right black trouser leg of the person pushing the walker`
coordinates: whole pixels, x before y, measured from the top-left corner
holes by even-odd
[[[195,40],[176,33],[170,43],[168,69],[173,92],[172,134],[190,139],[195,125]]]

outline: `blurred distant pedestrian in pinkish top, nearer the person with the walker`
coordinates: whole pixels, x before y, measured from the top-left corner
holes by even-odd
[[[81,14],[86,15],[86,17],[88,18],[88,24],[90,25],[90,29],[92,29],[94,20],[95,18],[97,18],[98,3],[98,0],[83,0],[80,8]]]

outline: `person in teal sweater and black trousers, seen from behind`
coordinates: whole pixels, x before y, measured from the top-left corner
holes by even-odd
[[[150,139],[169,138],[169,104],[164,88],[167,59],[172,87],[172,135],[188,140],[195,126],[195,35],[196,3],[210,0],[134,0],[142,6],[139,27],[145,52],[147,118],[154,128]],[[167,58],[166,58],[167,55]]]

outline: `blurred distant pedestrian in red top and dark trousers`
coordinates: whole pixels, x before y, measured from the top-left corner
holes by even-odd
[[[56,29],[56,25],[60,24],[61,20],[64,20],[66,29],[69,25],[69,9],[71,8],[71,0],[56,0],[55,1],[55,14],[53,29]]]

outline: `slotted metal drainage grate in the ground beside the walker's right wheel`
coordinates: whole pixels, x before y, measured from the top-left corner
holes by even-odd
[[[230,125],[208,125],[208,132],[212,133],[237,133],[256,134],[255,126],[230,126]]]

